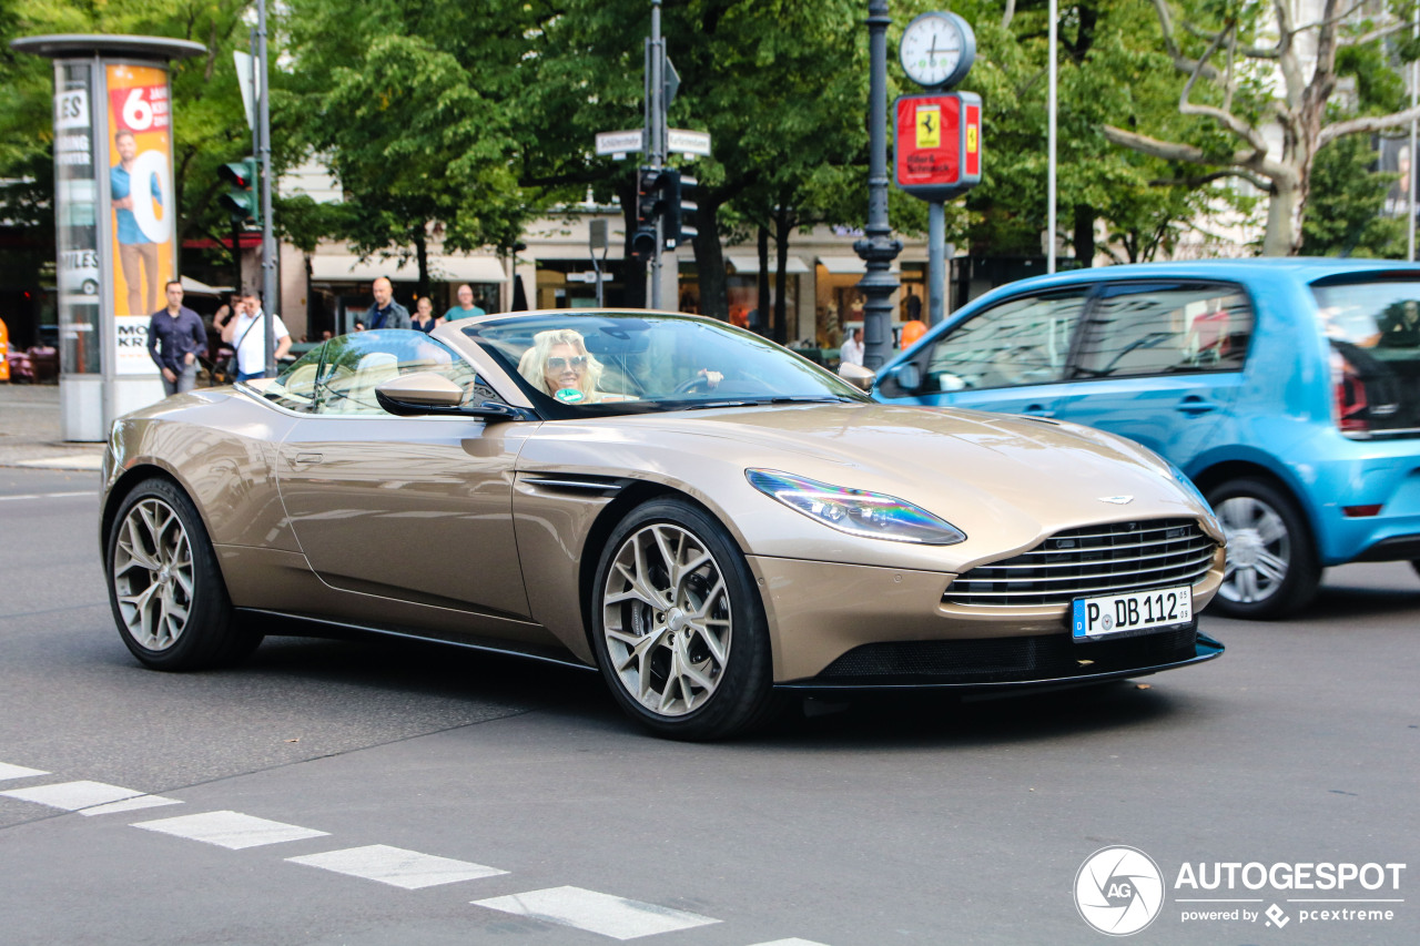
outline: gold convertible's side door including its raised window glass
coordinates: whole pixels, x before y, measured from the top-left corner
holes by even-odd
[[[277,460],[301,551],[339,589],[527,618],[513,470],[531,425],[386,413],[375,386],[413,371],[439,371],[479,399],[496,398],[463,358],[423,332],[327,342],[311,411]]]

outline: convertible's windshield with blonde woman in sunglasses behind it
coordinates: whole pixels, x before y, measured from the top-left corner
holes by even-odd
[[[569,311],[464,332],[550,418],[869,399],[787,348],[709,318]]]

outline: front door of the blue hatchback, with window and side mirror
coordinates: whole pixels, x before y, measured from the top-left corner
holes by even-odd
[[[953,325],[913,361],[912,386],[885,379],[888,398],[1054,416],[1089,287],[1004,300]]]

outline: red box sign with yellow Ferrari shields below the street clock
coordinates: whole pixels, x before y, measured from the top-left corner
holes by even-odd
[[[896,112],[899,187],[923,200],[946,200],[981,183],[978,95],[903,95]]]

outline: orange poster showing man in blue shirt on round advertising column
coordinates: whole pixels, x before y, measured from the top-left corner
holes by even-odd
[[[108,185],[112,214],[118,352],[115,374],[155,374],[148,320],[166,304],[173,278],[176,202],[168,72],[146,65],[108,68]]]

